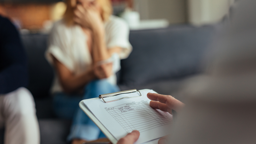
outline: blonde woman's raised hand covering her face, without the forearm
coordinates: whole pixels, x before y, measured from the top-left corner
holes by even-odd
[[[103,21],[96,6],[78,4],[74,10],[74,22],[91,30],[104,30]]]

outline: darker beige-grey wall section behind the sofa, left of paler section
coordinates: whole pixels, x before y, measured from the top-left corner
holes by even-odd
[[[186,0],[134,0],[142,20],[166,18],[170,24],[187,21]]]

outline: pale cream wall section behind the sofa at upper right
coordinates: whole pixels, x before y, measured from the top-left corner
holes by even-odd
[[[215,23],[228,15],[234,0],[188,0],[188,22],[193,25]]]

